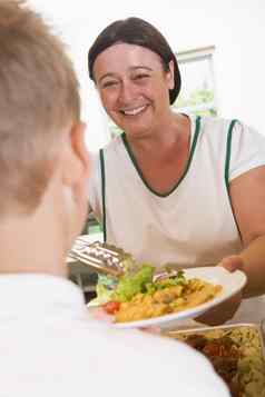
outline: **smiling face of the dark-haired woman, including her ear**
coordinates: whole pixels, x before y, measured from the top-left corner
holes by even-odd
[[[131,137],[150,133],[167,117],[173,64],[166,72],[149,49],[114,44],[97,57],[94,76],[105,110]]]

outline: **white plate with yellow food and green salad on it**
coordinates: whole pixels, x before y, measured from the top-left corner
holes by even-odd
[[[97,298],[88,307],[95,314],[100,308],[117,328],[171,328],[229,299],[245,284],[243,271],[229,272],[220,266],[156,275],[154,267],[143,265],[116,280],[99,278]]]

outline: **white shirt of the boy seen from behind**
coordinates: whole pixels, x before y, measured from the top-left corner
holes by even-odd
[[[92,320],[62,278],[0,276],[0,397],[228,397],[200,354]]]

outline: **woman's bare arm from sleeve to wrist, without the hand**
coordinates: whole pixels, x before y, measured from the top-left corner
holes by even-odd
[[[229,196],[245,247],[239,254],[248,279],[244,297],[265,294],[265,166],[232,180]]]

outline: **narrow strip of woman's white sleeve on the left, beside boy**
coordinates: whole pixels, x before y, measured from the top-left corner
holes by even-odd
[[[90,172],[87,182],[87,193],[89,208],[92,210],[98,221],[102,218],[102,200],[101,200],[101,168],[99,152],[90,152]]]

